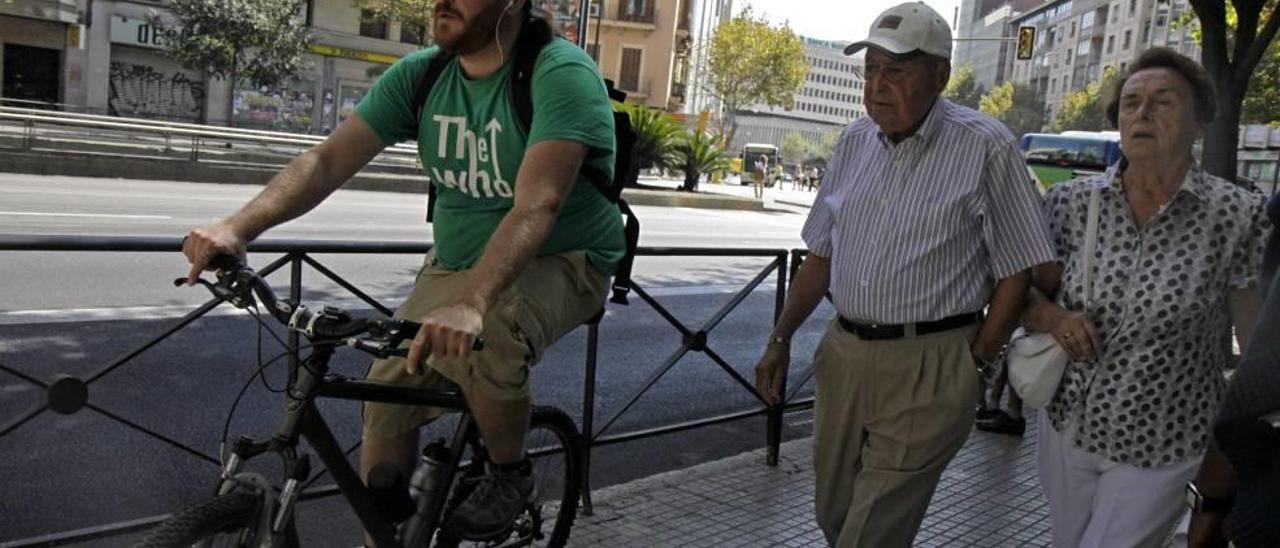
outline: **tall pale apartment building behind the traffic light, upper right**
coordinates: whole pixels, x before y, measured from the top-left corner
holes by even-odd
[[[1172,47],[1192,59],[1194,20],[1176,23],[1187,0],[1057,0],[1011,19],[1011,27],[1036,27],[1030,60],[1012,60],[1012,81],[1044,95],[1047,119],[1062,99],[1108,72],[1123,72],[1148,47]]]

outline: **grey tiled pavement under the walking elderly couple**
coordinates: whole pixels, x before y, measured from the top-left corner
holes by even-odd
[[[943,472],[916,545],[1048,545],[1034,449],[1034,428],[1023,439],[974,431]],[[823,545],[812,458],[804,438],[782,446],[777,467],[760,449],[599,489],[570,545]]]

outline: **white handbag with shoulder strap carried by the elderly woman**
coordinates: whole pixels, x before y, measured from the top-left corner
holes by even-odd
[[[1106,184],[1110,184],[1108,178]],[[1093,301],[1093,252],[1098,245],[1098,206],[1101,192],[1094,187],[1089,193],[1089,211],[1084,227],[1084,309]],[[1050,333],[1029,333],[1018,328],[1009,342],[1009,384],[1023,402],[1032,407],[1044,407],[1053,401],[1062,371],[1070,360],[1066,351]]]

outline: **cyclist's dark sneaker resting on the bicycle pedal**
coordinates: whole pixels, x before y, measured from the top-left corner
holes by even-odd
[[[529,458],[513,465],[485,465],[485,474],[468,479],[474,487],[449,519],[449,530],[465,540],[499,539],[534,499],[534,469]]]

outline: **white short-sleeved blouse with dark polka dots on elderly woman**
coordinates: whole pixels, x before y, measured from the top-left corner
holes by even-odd
[[[1112,168],[1115,169],[1115,168]],[[1114,462],[1166,466],[1203,455],[1225,393],[1228,296],[1256,284],[1271,230],[1266,198],[1192,169],[1146,225],[1119,178],[1075,179],[1044,195],[1065,265],[1057,303],[1084,307],[1089,191],[1101,187],[1089,318],[1103,341],[1097,362],[1071,362],[1048,406],[1053,428]]]

